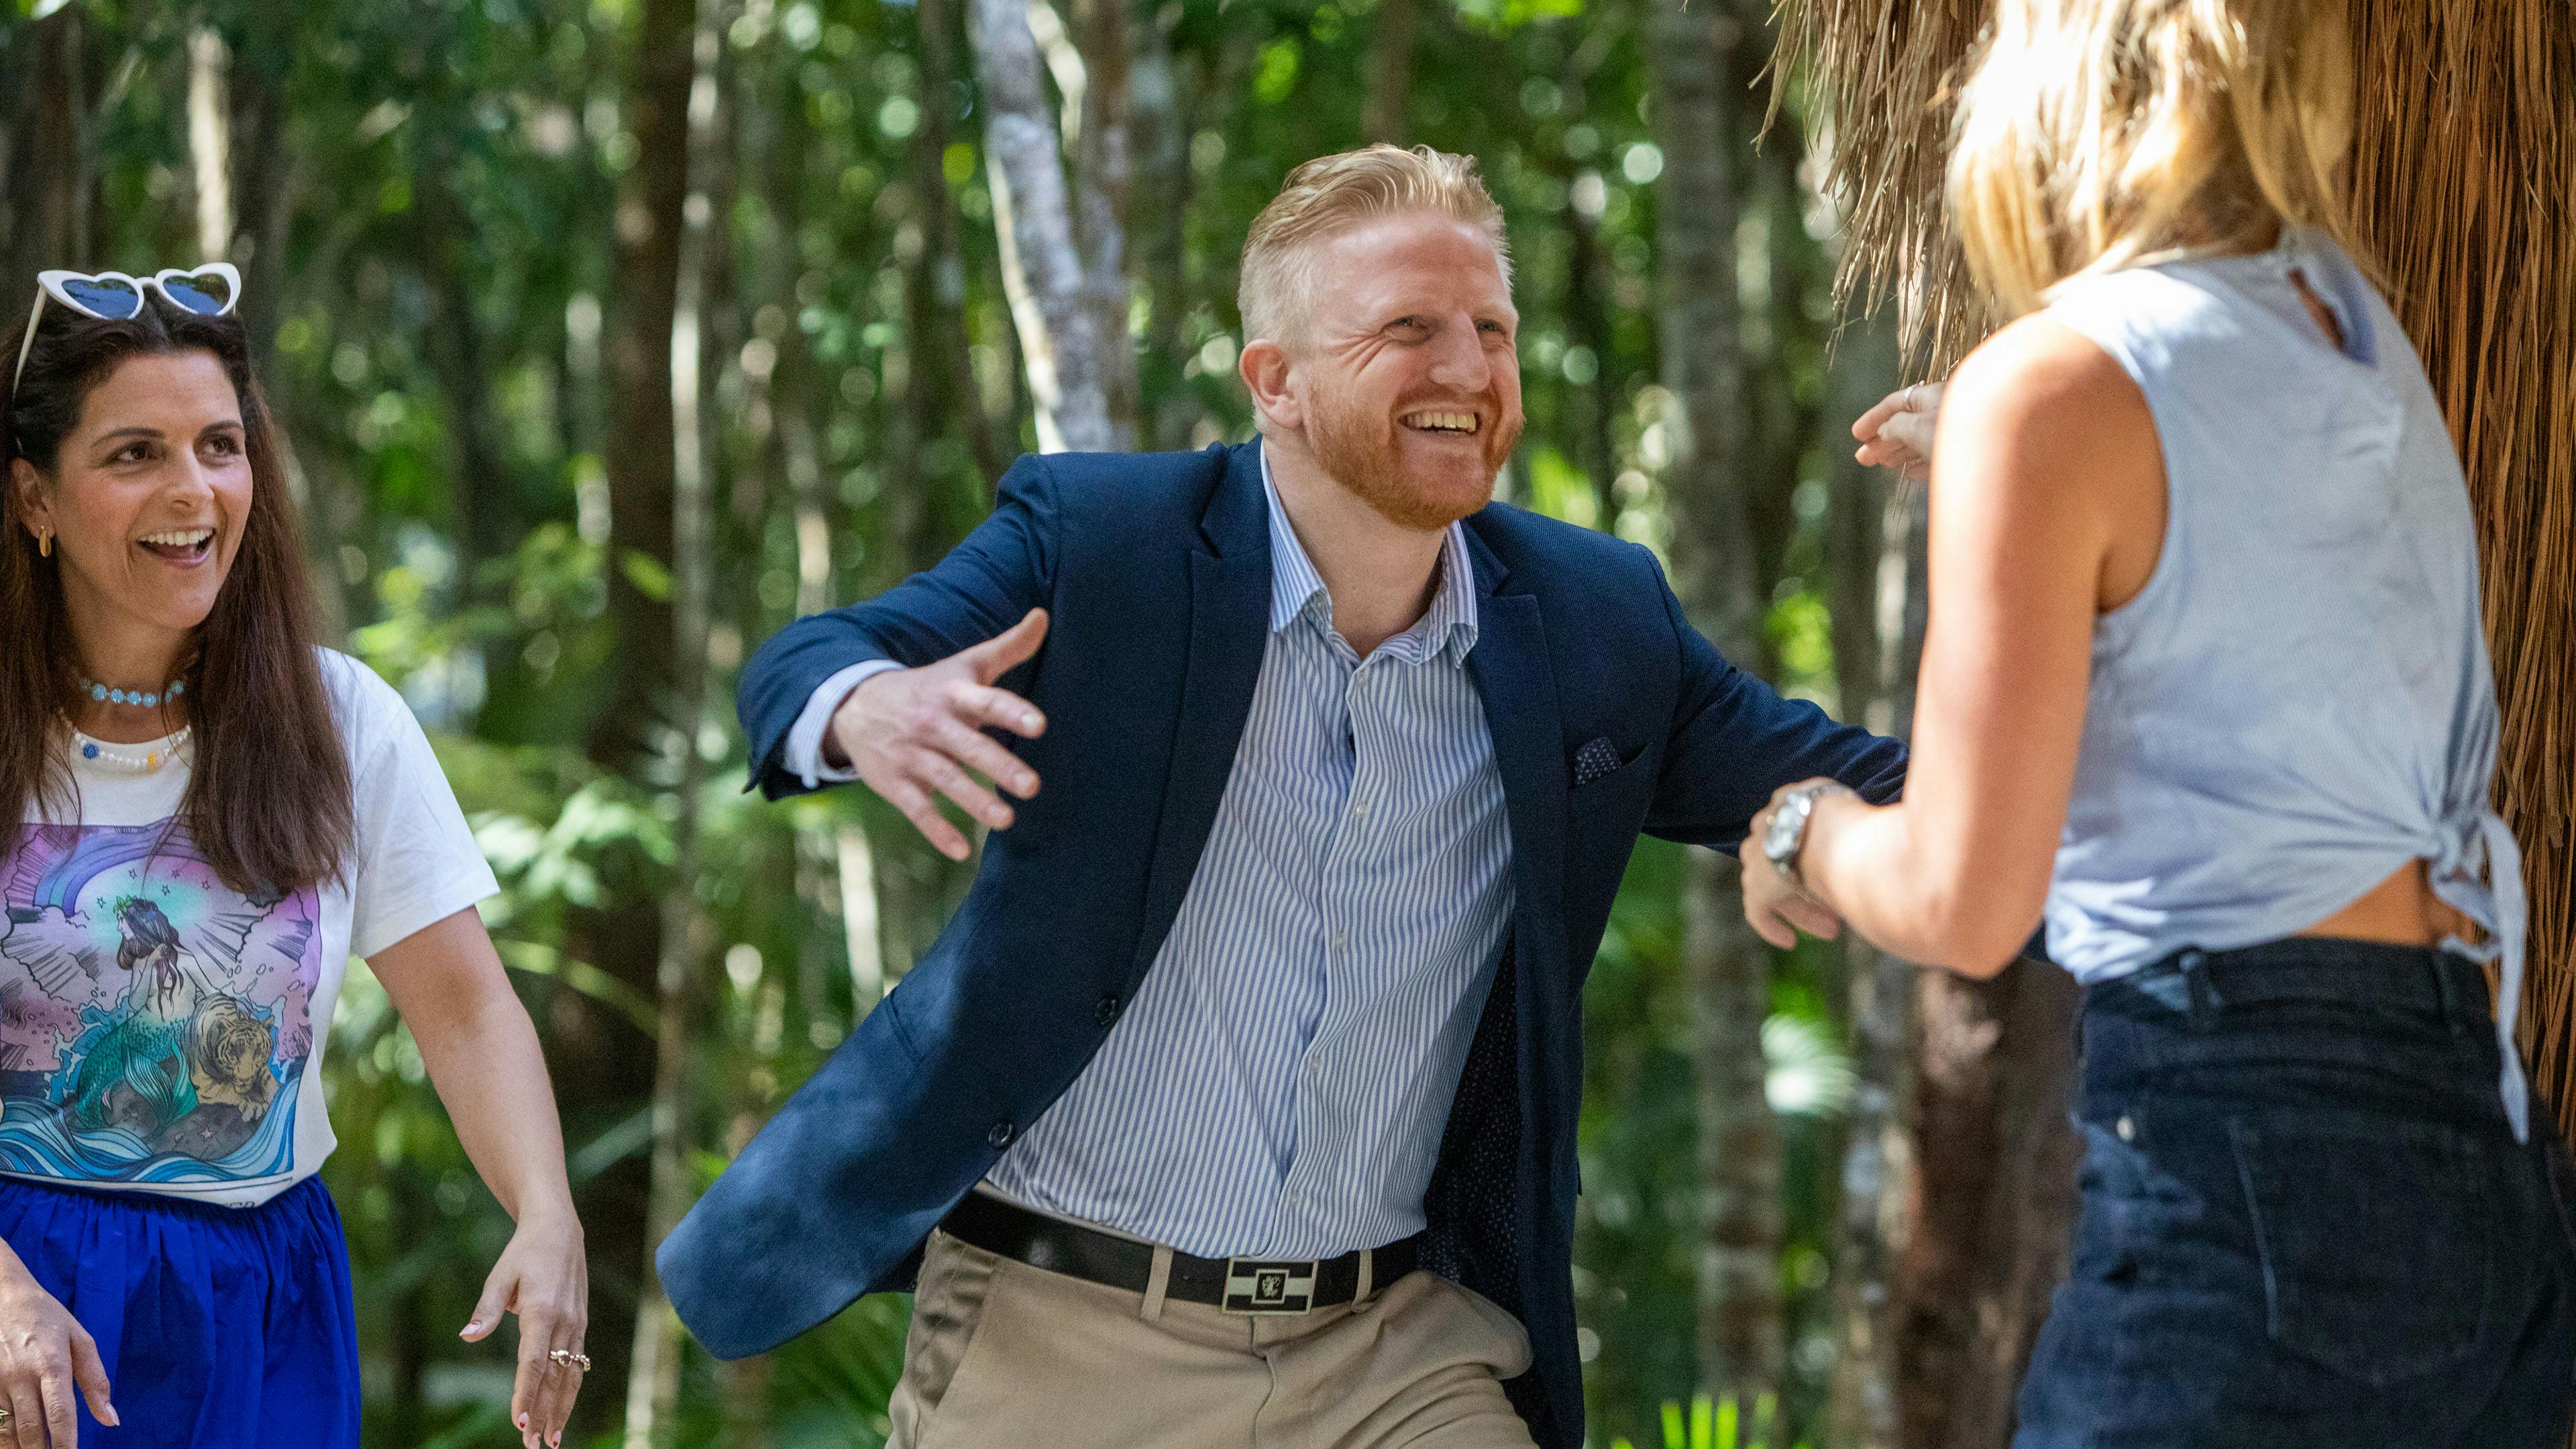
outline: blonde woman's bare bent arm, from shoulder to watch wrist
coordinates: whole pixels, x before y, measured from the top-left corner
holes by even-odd
[[[2074,330],[2030,317],[1950,382],[1932,474],[1906,794],[1819,799],[1801,874],[1878,946],[1991,975],[2040,918],[2094,616],[2154,570],[2164,459],[2138,384]],[[1777,879],[1757,851],[1747,869]]]

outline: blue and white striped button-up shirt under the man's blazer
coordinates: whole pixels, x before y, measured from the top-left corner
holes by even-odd
[[[1136,1000],[987,1183],[1185,1253],[1321,1258],[1422,1230],[1512,835],[1466,531],[1360,660],[1267,459],[1262,490],[1270,642],[1208,848]]]

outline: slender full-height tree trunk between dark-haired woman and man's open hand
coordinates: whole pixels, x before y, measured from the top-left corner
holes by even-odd
[[[680,1225],[690,1204],[688,1124],[690,1124],[690,1024],[706,995],[701,977],[711,949],[711,926],[698,905],[698,802],[706,794],[706,755],[698,732],[706,727],[706,637],[714,565],[708,392],[706,348],[714,284],[721,278],[724,242],[716,217],[729,214],[726,165],[726,23],[729,0],[703,0],[690,44],[688,121],[683,165],[688,193],[680,206],[683,229],[672,291],[670,374],[665,376],[672,420],[672,714],[670,763],[677,776],[677,817],[672,820],[672,882],[662,892],[662,951],[654,972],[657,1039],[652,1083],[652,1207],[639,1261],[644,1294],[636,1305],[634,1361],[626,1379],[626,1449],[659,1449],[675,1441],[680,1405],[680,1318],[662,1297],[652,1248]]]

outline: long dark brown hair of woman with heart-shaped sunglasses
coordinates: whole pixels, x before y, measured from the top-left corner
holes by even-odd
[[[10,333],[0,358],[18,356]],[[348,755],[314,655],[312,585],[296,541],[268,405],[250,374],[240,317],[196,317],[147,294],[139,317],[100,322],[46,307],[26,376],[0,402],[0,459],[59,480],[62,441],[90,392],[126,358],[214,353],[242,402],[250,516],[232,575],[185,665],[193,773],[180,822],[240,892],[337,879],[353,841]],[[36,554],[15,487],[0,487],[0,859],[41,804],[75,822],[70,706],[80,688],[59,559]]]

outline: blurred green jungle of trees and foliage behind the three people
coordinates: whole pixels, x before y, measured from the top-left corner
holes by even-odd
[[[744,797],[734,676],[1023,449],[1247,438],[1234,268],[1298,160],[1476,155],[1525,317],[1504,498],[1904,730],[1922,498],[1847,428],[1922,364],[1834,289],[1875,83],[1777,72],[1767,0],[0,3],[0,304],[242,268],[335,642],[505,882],[592,1245],[567,1441],[881,1441],[904,1299],[716,1364],[647,1276],[969,879],[860,792]],[[1770,951],[1731,869],[1646,841],[1584,998],[1592,1444],[1999,1446],[2063,1271],[2074,987]],[[456,1338],[507,1220],[363,969],[330,1093],[368,1441],[515,1444],[510,1333]]]

